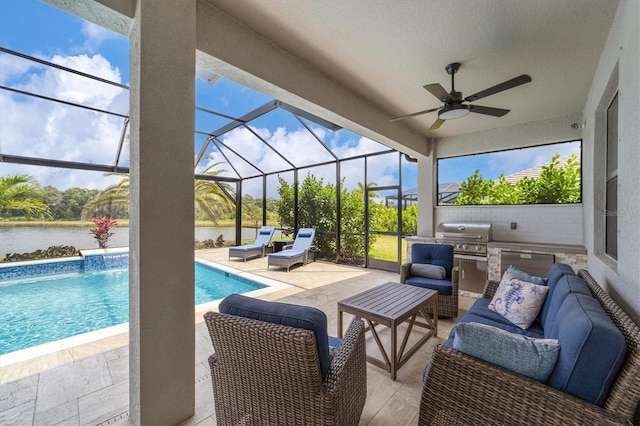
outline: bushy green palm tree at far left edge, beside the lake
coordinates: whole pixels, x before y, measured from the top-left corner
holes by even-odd
[[[0,176],[0,217],[20,213],[28,219],[53,218],[41,196],[40,185],[32,176]]]

